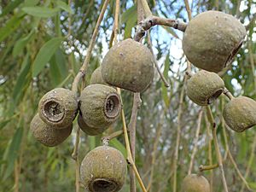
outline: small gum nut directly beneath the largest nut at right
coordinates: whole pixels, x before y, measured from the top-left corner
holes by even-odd
[[[200,106],[211,104],[224,90],[224,81],[217,73],[201,70],[187,83],[187,95]]]

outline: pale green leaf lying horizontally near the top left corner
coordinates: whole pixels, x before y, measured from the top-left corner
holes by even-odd
[[[25,7],[25,8],[22,8],[22,10],[28,15],[32,15],[35,17],[49,18],[56,15],[60,9],[51,9],[51,8],[35,6],[35,7]]]

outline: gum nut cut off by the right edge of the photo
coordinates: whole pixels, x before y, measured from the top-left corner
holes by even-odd
[[[239,96],[228,102],[223,111],[224,120],[230,129],[241,132],[256,125],[256,102]]]

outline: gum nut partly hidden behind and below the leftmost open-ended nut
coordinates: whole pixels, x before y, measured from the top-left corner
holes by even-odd
[[[72,132],[73,125],[69,125],[64,129],[55,129],[50,125],[46,125],[39,115],[36,114],[30,124],[32,135],[39,143],[47,147],[55,147],[64,142]]]

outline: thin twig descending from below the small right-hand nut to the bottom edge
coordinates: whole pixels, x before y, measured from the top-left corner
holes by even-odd
[[[217,159],[218,159],[219,170],[221,172],[222,183],[224,185],[224,191],[229,192],[229,189],[228,189],[228,186],[227,186],[227,183],[226,183],[226,178],[225,178],[225,175],[224,175],[224,167],[223,167],[223,162],[222,162],[222,156],[220,154],[220,150],[219,150],[219,146],[218,146],[217,127],[216,127],[215,120],[213,119],[212,110],[209,106],[207,106],[207,118],[208,118],[209,122],[212,125],[213,142],[214,142],[214,147],[215,147],[216,155],[217,155]]]

